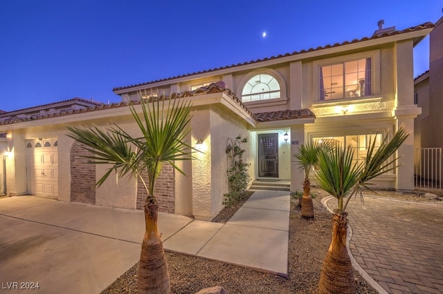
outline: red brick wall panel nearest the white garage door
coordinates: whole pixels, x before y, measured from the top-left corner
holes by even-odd
[[[88,164],[89,155],[78,142],[71,148],[71,202],[96,204],[96,165]]]

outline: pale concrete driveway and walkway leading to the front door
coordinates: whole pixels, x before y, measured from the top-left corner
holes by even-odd
[[[226,224],[160,213],[165,250],[287,275],[289,199],[256,191]],[[0,199],[0,290],[100,293],[138,261],[144,230],[140,210]]]

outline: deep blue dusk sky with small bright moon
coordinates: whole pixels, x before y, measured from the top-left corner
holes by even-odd
[[[0,110],[403,30],[442,14],[443,1],[0,0]],[[262,33],[266,32],[266,37]],[[428,38],[414,75],[428,69]]]

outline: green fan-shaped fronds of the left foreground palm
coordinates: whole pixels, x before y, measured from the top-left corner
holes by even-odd
[[[165,101],[168,100],[168,103]],[[114,125],[106,130],[100,128],[75,128],[69,126],[69,137],[84,144],[91,155],[92,164],[111,164],[107,173],[97,182],[103,184],[113,171],[119,176],[132,173],[141,178],[150,197],[154,197],[154,184],[164,163],[169,163],[183,173],[174,161],[192,159],[192,148],[186,137],[190,133],[192,115],[190,101],[178,99],[141,99],[141,113],[134,104],[129,110],[141,135],[133,137],[123,128]],[[135,149],[135,151],[133,150]],[[147,174],[149,187],[142,174]]]

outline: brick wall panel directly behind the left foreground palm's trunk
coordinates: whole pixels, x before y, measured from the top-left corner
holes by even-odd
[[[143,177],[147,182],[146,177]],[[175,211],[175,186],[174,186],[174,168],[170,164],[163,164],[161,173],[157,177],[154,187],[154,196],[159,202],[159,211],[162,213],[174,213]],[[147,194],[143,183],[139,179],[137,182],[137,209],[143,209],[145,206]]]

